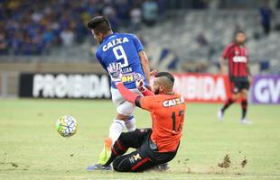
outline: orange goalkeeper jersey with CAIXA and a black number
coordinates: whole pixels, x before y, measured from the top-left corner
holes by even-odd
[[[182,136],[186,103],[179,94],[156,94],[141,98],[142,109],[151,112],[151,139],[159,152],[176,150]]]

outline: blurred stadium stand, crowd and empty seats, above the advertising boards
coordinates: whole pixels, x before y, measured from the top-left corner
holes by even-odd
[[[237,11],[230,10],[224,1],[178,1],[178,7],[171,2],[2,0],[0,61],[95,62],[97,44],[85,24],[92,16],[104,14],[114,30],[133,31],[143,39],[152,67],[215,73],[221,50],[233,32],[242,29],[247,33],[247,48],[256,73],[279,73],[279,31],[273,28],[264,35],[257,10],[260,4]],[[168,5],[169,10],[165,8]],[[239,8],[238,5],[234,7]],[[247,6],[252,5],[247,2]],[[180,9],[184,6],[187,11]],[[275,20],[280,19],[279,11],[274,14]]]

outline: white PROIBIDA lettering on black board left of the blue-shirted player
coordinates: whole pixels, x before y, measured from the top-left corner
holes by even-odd
[[[108,77],[36,74],[33,76],[33,97],[109,98]]]

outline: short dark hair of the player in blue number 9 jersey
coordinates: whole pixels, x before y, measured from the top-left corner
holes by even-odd
[[[107,33],[112,31],[111,24],[104,16],[97,16],[92,18],[88,23],[88,28],[96,32]]]

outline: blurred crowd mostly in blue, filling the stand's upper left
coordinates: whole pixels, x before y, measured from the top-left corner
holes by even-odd
[[[40,55],[53,46],[70,47],[89,35],[85,24],[106,15],[115,31],[153,25],[164,0],[1,0],[0,53]]]

